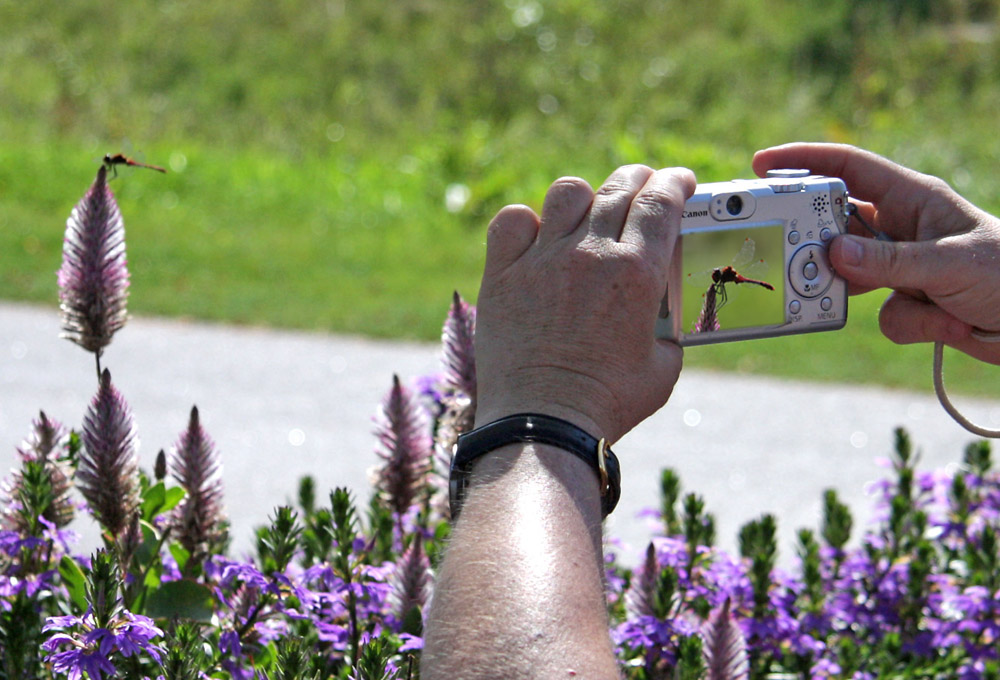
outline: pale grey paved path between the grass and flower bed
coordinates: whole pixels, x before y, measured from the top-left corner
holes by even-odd
[[[5,471],[39,408],[79,426],[96,390],[92,357],[58,334],[55,310],[0,304]],[[234,548],[242,553],[253,544],[252,528],[294,498],[304,474],[321,490],[347,485],[367,499],[376,407],[393,372],[406,380],[435,371],[439,349],[138,318],[115,338],[104,364],[133,408],[146,469],[197,404],[221,450]],[[737,394],[745,397],[738,406],[730,398]],[[975,421],[1000,424],[1000,402],[962,406]],[[685,493],[705,497],[722,547],[735,549],[739,527],[771,512],[789,560],[795,531],[818,526],[823,489],[850,503],[856,525],[870,518],[866,487],[880,476],[876,461],[891,450],[897,425],[910,430],[927,467],[959,460],[972,439],[933,395],[686,372],[667,406],[615,447],[624,493],[608,531],[634,561],[649,536],[636,515],[656,505],[659,470],[671,466]],[[77,528],[84,547],[96,545],[92,527]]]

